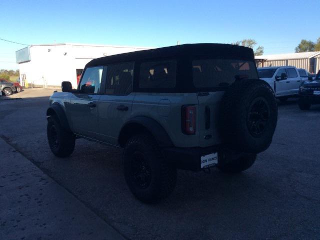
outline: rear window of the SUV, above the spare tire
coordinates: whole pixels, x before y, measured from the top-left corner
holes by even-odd
[[[192,61],[196,88],[229,86],[235,79],[256,79],[255,63],[243,60],[205,59]]]

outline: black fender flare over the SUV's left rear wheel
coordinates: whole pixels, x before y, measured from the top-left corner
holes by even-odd
[[[158,143],[159,147],[172,147],[173,143],[164,128],[154,119],[144,116],[137,116],[127,121],[120,130],[118,144],[124,147],[125,142],[133,134],[141,131],[149,132]]]

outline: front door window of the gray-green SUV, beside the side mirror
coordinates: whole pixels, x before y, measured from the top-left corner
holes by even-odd
[[[99,93],[103,67],[86,68],[80,82],[80,93]]]

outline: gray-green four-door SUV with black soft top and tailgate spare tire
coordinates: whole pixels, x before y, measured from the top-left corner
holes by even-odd
[[[258,79],[252,49],[235,45],[94,59],[77,89],[61,87],[46,112],[53,154],[69,156],[77,138],[124,148],[125,180],[143,202],[168,196],[176,169],[249,168],[277,121],[274,93]]]

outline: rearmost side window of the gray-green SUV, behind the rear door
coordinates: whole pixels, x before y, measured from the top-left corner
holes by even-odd
[[[175,60],[141,63],[139,88],[174,88],[175,78]]]

